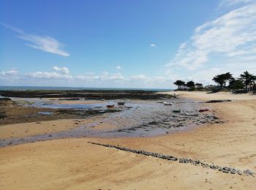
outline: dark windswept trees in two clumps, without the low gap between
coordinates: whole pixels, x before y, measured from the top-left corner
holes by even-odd
[[[213,77],[215,83],[218,84],[219,89],[222,90],[222,88],[230,88],[230,89],[244,89],[247,91],[248,86],[252,85],[252,89],[255,91],[256,86],[256,75],[252,75],[248,71],[243,72],[239,77],[233,77],[233,74],[230,72],[226,72],[221,75],[216,75]],[[176,80],[174,85],[178,86],[178,88],[181,88],[181,86],[187,86],[190,89],[193,89],[195,87],[197,88],[203,88],[203,84],[201,83],[195,83],[194,81],[190,80],[189,82],[185,83],[183,80]],[[228,84],[228,85],[227,85]]]

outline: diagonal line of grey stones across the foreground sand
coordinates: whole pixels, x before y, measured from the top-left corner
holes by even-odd
[[[165,154],[161,154],[161,153],[152,153],[152,152],[143,151],[143,150],[134,150],[134,149],[130,149],[130,148],[120,147],[120,146],[116,146],[116,145],[102,144],[102,143],[98,143],[98,142],[88,142],[88,143],[90,143],[92,145],[101,145],[101,146],[108,147],[108,148],[116,148],[120,151],[138,153],[138,154],[142,154],[142,155],[145,155],[145,156],[153,156],[153,157],[156,157],[158,159],[178,161],[179,163],[184,163],[184,164],[194,164],[195,166],[206,167],[206,168],[209,168],[209,169],[212,169],[212,170],[219,170],[219,172],[225,172],[225,173],[230,173],[230,174],[238,174],[238,175],[250,175],[252,177],[255,177],[254,172],[252,172],[251,170],[244,170],[243,171],[243,170],[238,170],[238,169],[233,168],[233,167],[220,167],[220,166],[217,166],[215,164],[207,164],[207,163],[199,161],[199,160],[192,160],[192,159],[186,159],[186,158],[176,158],[175,156],[165,155]]]

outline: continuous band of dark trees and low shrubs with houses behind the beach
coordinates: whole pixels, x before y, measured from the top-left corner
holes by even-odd
[[[226,72],[216,75],[212,79],[217,86],[203,86],[202,83],[195,83],[190,80],[185,83],[183,80],[176,80],[173,84],[178,86],[177,90],[185,91],[256,91],[256,75],[245,71],[239,77],[233,77],[233,74]]]

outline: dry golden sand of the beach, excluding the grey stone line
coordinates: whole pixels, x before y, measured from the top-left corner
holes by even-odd
[[[256,180],[252,176],[227,174],[88,143],[101,142],[256,171],[256,95],[167,92],[174,93],[199,101],[233,101],[202,104],[224,123],[205,123],[182,132],[156,137],[47,140],[0,148],[0,189],[255,189]],[[73,121],[44,121],[48,127],[40,129],[34,123],[3,125],[1,138],[23,137],[26,127],[30,134],[51,130],[53,124],[58,126],[54,130],[65,130],[75,127]]]

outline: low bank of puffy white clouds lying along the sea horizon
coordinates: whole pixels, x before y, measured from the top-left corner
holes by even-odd
[[[146,75],[124,76],[121,73],[110,74],[107,71],[99,75],[88,72],[84,75],[69,75],[56,66],[54,72],[28,72],[20,74],[15,70],[0,72],[0,83],[23,86],[93,86],[93,87],[133,87],[133,88],[167,88],[170,77],[150,77]],[[63,68],[63,67],[62,67]]]

